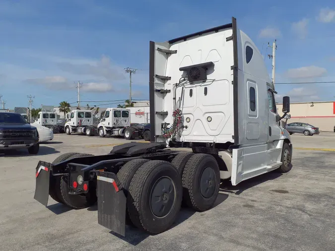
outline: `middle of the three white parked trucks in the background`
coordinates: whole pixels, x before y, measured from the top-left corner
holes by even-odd
[[[91,110],[72,110],[65,123],[65,132],[67,135],[75,132],[91,136],[97,133],[97,118]]]

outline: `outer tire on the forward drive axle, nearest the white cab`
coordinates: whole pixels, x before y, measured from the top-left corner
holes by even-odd
[[[197,153],[185,165],[182,184],[187,205],[196,211],[212,207],[220,187],[220,169],[210,154]]]

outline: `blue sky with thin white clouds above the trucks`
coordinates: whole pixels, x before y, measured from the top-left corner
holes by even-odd
[[[11,109],[27,106],[30,94],[34,107],[73,103],[79,80],[82,101],[128,99],[129,75],[123,69],[135,67],[133,99],[148,99],[149,40],[229,23],[231,16],[263,55],[271,52],[268,42],[277,39],[275,82],[335,81],[331,0],[1,0],[0,95]],[[265,57],[265,62],[271,74],[271,61]],[[278,84],[276,89],[291,101],[335,96],[335,83]],[[102,103],[95,105],[113,106]]]

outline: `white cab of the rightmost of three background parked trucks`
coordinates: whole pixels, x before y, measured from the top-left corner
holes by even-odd
[[[107,108],[98,125],[99,136],[124,136],[125,127],[130,126],[130,109]]]

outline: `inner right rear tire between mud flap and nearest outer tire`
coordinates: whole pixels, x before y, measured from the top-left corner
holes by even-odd
[[[127,199],[130,199],[131,197],[128,196],[128,189],[131,184],[131,181],[134,177],[134,174],[136,171],[146,162],[148,162],[148,159],[134,159],[129,162],[127,162],[121,170],[118,172],[117,177],[121,183],[121,186],[125,188],[125,194]],[[126,214],[126,224],[127,225],[133,225],[133,222],[131,221],[129,217],[129,212],[127,209],[127,214]]]

